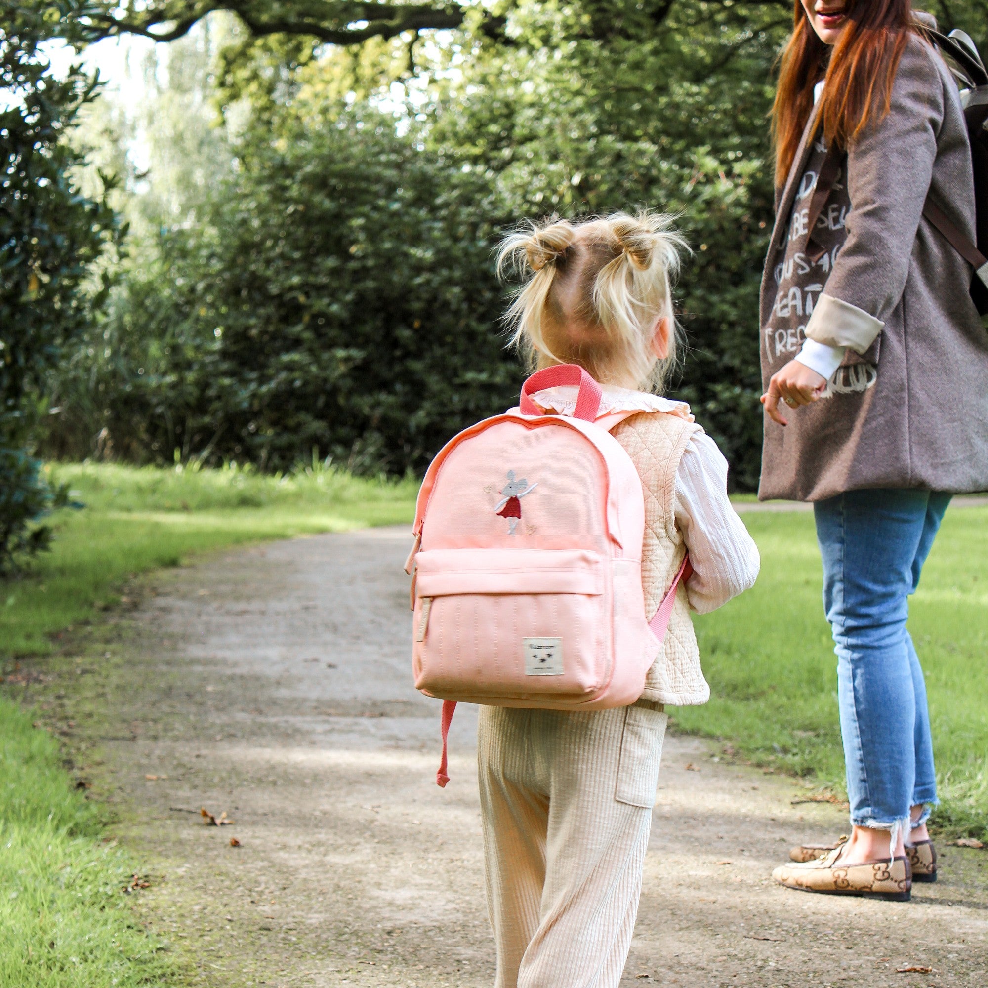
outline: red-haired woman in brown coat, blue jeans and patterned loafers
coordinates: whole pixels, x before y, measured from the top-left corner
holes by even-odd
[[[988,337],[971,267],[924,215],[973,239],[970,150],[909,0],[796,0],[774,130],[759,496],[814,505],[853,824],[774,876],[907,899],[936,880],[937,803],[907,599],[950,495],[988,487]]]

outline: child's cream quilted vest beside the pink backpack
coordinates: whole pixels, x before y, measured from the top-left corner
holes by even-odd
[[[676,471],[700,426],[677,415],[633,415],[612,435],[634,462],[645,493],[645,541],[641,551],[641,582],[645,613],[655,613],[686,555],[683,535],[676,528]],[[700,669],[700,647],[690,617],[685,585],[680,585],[669,631],[648,671],[643,700],[691,706],[710,699]]]

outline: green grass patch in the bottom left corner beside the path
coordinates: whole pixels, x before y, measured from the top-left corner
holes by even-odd
[[[0,985],[171,984],[179,961],[134,920],[136,865],[100,841],[98,815],[28,713],[0,700]]]

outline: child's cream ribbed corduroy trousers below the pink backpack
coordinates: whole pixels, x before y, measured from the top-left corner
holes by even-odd
[[[617,988],[667,715],[482,706],[484,864],[497,988]]]

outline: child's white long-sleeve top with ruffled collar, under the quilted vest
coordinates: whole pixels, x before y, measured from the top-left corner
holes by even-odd
[[[600,415],[655,411],[694,421],[684,401],[619,387],[603,390]],[[535,393],[533,400],[546,411],[572,415],[576,396],[575,387],[552,387]],[[727,469],[717,444],[698,431],[687,444],[676,472],[676,527],[690,550],[694,575],[687,593],[698,614],[715,611],[754,586],[761,566],[758,546],[727,497]]]

